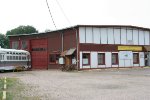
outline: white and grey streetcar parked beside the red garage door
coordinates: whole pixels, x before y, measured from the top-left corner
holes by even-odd
[[[0,48],[0,71],[31,68],[30,53],[25,50]]]

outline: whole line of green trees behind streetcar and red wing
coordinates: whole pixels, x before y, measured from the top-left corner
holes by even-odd
[[[38,30],[33,26],[19,26],[12,30],[6,32],[6,34],[0,33],[0,46],[2,48],[9,48],[9,35],[18,35],[18,34],[31,34],[31,33],[38,33]]]

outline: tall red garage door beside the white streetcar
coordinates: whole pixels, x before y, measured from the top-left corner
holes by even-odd
[[[31,40],[32,69],[47,69],[47,39]]]

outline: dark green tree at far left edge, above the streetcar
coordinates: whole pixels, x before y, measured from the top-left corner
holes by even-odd
[[[9,47],[8,37],[4,34],[1,34],[1,33],[0,33],[0,46],[2,48],[8,48]]]

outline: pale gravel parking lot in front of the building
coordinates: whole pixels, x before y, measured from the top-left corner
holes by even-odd
[[[40,70],[0,73],[2,77],[18,78],[26,86],[21,93],[40,100],[150,100],[150,68]]]

